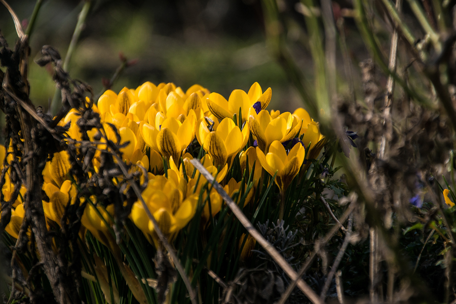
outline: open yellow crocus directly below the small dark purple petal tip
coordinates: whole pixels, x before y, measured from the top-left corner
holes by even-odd
[[[285,112],[273,119],[267,110],[261,110],[258,115],[250,111],[250,132],[256,137],[258,147],[267,151],[274,140],[285,142],[293,139],[302,126],[302,120],[294,118],[291,113]]]

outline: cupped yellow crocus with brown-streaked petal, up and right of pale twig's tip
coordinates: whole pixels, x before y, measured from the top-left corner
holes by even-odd
[[[248,122],[239,129],[231,118],[223,119],[216,131],[210,132],[204,122],[199,126],[200,144],[211,156],[216,167],[223,167],[226,163],[231,166],[233,157],[245,147],[249,139]]]

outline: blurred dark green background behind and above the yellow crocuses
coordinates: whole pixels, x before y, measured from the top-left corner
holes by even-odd
[[[24,28],[34,1],[9,4]],[[31,58],[43,45],[56,47],[65,57],[84,1],[45,0],[30,37]],[[290,3],[293,9],[294,3]],[[302,16],[301,16],[302,18]],[[102,78],[110,79],[121,64],[119,53],[137,63],[127,68],[113,86],[136,88],[145,81],[174,82],[182,89],[200,84],[228,98],[234,89],[248,91],[256,81],[273,90],[270,109],[294,110],[299,96],[265,43],[261,3],[257,0],[93,1],[77,48],[69,64],[73,79],[87,82],[98,94]],[[0,30],[10,46],[17,35],[8,10],[0,7]],[[310,72],[304,48],[296,61]],[[54,96],[51,67],[30,60],[30,98],[48,108]]]

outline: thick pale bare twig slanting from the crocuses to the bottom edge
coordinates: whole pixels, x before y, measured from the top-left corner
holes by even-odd
[[[222,186],[214,182],[214,178],[212,175],[204,168],[203,165],[199,162],[199,160],[191,160],[190,161],[195,168],[200,171],[200,173],[207,179],[207,181],[213,184],[215,191],[223,198],[226,205],[230,207],[233,211],[234,215],[238,218],[241,224],[245,227],[247,232],[264,248],[266,252],[268,252],[271,257],[279,264],[279,266],[285,271],[285,273],[292,279],[296,280],[296,285],[299,289],[314,303],[322,304],[323,302],[320,300],[318,295],[313,291],[309,285],[306,284],[296,272],[291,268],[290,264],[283,258],[283,256],[267,241],[264,237],[253,227],[252,223],[248,220],[248,218],[244,215],[244,213],[239,209],[238,205],[231,199],[229,195],[223,190]]]

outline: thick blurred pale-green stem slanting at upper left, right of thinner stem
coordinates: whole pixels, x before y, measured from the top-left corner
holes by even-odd
[[[65,60],[63,61],[62,68],[64,71],[68,71],[68,64],[71,60],[74,50],[76,49],[76,44],[78,43],[79,36],[81,35],[81,32],[84,28],[84,24],[86,23],[87,15],[89,14],[91,5],[92,5],[92,0],[85,0],[81,13],[79,13],[78,22],[76,23],[76,26],[74,27],[73,36],[71,37],[71,42],[68,46],[68,51],[66,52]],[[60,99],[61,99],[61,92],[60,92],[60,90],[57,89],[55,91],[54,98],[52,99],[52,103],[51,103],[51,113],[53,115],[55,113],[57,113],[57,110],[60,106],[60,103],[58,101]]]

